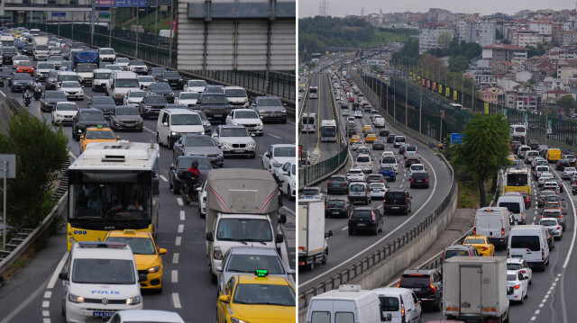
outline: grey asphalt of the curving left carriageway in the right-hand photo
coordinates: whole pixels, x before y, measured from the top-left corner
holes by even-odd
[[[349,109],[350,110],[350,109]],[[345,127],[342,118],[341,126]],[[364,124],[371,124],[371,120],[366,113],[362,119],[357,119],[357,129],[362,133],[362,126]],[[400,130],[391,129],[389,123],[387,126],[394,133],[401,134]],[[377,129],[378,132],[378,129]],[[383,139],[383,138],[380,138]],[[385,139],[386,142],[386,139]],[[409,215],[386,215],[384,219],[384,229],[377,236],[349,236],[347,228],[347,219],[328,218],[325,220],[325,231],[333,230],[334,237],[329,239],[329,258],[326,265],[316,264],[313,271],[307,271],[299,268],[298,271],[298,288],[299,291],[304,291],[316,283],[322,282],[331,275],[343,270],[349,265],[361,260],[377,250],[380,247],[387,245],[390,241],[398,238],[408,229],[414,227],[418,221],[422,220],[430,212],[434,211],[439,202],[444,199],[449,193],[451,187],[452,177],[449,170],[444,165],[444,162],[435,156],[435,152],[428,148],[428,146],[421,145],[416,141],[408,139],[408,143],[414,144],[418,148],[418,153],[422,157],[422,163],[425,164],[430,175],[431,185],[428,189],[409,188],[408,184],[408,168],[404,167],[404,159],[402,155],[397,155],[398,161],[398,175],[396,182],[389,182],[390,189],[407,189],[412,198],[412,212]],[[368,144],[371,148],[372,145]],[[392,150],[398,154],[398,148],[392,148],[392,144],[386,144],[385,150]],[[372,174],[375,174],[379,168],[381,150],[372,151],[371,155],[374,158],[372,162]],[[356,153],[350,151],[353,158]],[[346,173],[346,170],[343,171]],[[331,197],[339,196],[346,198],[346,195],[327,195],[327,200]],[[377,206],[382,211],[382,201],[378,198],[372,199],[371,206]]]

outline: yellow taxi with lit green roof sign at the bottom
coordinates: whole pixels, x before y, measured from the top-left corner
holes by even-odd
[[[295,323],[295,290],[266,270],[231,277],[216,301],[218,323]]]

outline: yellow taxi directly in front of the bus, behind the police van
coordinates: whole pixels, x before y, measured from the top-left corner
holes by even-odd
[[[138,210],[138,206],[135,207]],[[166,254],[167,250],[156,246],[151,232],[133,229],[113,230],[106,234],[105,241],[128,244],[133,249],[138,274],[147,276],[146,282],[141,282],[141,288],[162,291],[161,255]]]

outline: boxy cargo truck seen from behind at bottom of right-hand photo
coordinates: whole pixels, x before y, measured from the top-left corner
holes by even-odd
[[[443,264],[443,312],[464,322],[508,322],[507,258],[453,256]]]

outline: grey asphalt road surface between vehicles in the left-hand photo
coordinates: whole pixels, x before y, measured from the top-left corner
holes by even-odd
[[[89,99],[104,93],[93,93],[90,86],[84,88],[86,98],[77,102],[86,108]],[[178,95],[179,91],[175,91]],[[22,102],[22,93],[0,91],[0,99],[9,96]],[[40,111],[40,101],[32,100],[29,112],[50,122],[50,113]],[[142,132],[118,132],[121,139],[149,142],[156,139],[156,120],[145,120]],[[213,124],[214,126],[214,124]],[[64,126],[70,137],[71,127]],[[224,167],[261,168],[261,157],[266,149],[275,143],[295,143],[295,123],[265,123],[264,136],[255,137],[256,159],[226,158]],[[70,137],[70,157],[78,157],[79,145]],[[164,274],[161,293],[142,292],[144,309],[172,310],[187,322],[215,321],[216,286],[210,283],[206,265],[205,222],[198,215],[197,202],[183,205],[179,195],[169,191],[169,164],[172,153],[160,147],[160,225],[157,237],[159,247],[168,249],[163,256]],[[286,247],[282,257],[290,268],[295,268],[295,202],[284,199],[281,210],[287,215],[287,224],[282,226]],[[60,232],[45,243],[32,263],[19,276],[14,277],[0,289],[0,322],[64,322],[60,314],[62,288],[58,274],[66,253],[66,239]]]

